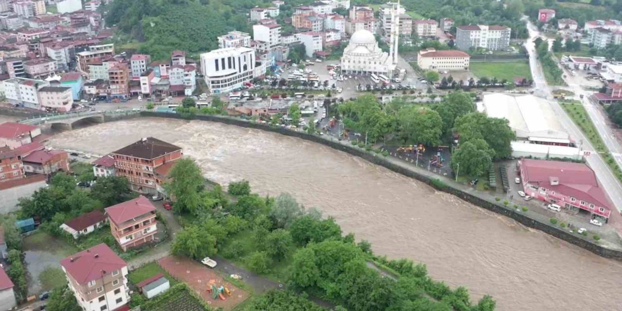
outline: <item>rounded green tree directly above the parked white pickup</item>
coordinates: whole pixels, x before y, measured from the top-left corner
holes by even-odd
[[[216,237],[208,233],[205,228],[195,225],[188,226],[175,234],[172,252],[194,259],[213,256],[218,252]]]

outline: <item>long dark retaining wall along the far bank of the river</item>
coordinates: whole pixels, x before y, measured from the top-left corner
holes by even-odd
[[[141,116],[185,119],[180,114],[156,113],[152,111],[142,111]],[[389,157],[384,157],[379,154],[374,154],[373,152],[364,151],[360,147],[349,146],[339,141],[335,141],[332,139],[326,139],[322,136],[310,135],[310,134],[307,134],[306,132],[291,131],[289,129],[284,129],[284,128],[276,128],[276,127],[269,126],[268,124],[251,122],[251,121],[239,119],[239,118],[210,116],[210,115],[197,115],[197,116],[194,116],[193,119],[231,124],[235,126],[241,126],[243,128],[261,129],[264,131],[277,132],[285,136],[298,137],[300,139],[305,139],[307,141],[317,142],[318,144],[323,144],[324,146],[337,149],[338,151],[347,152],[348,154],[351,154],[352,156],[361,157],[365,160],[368,160],[369,162],[372,162],[373,164],[381,165],[383,167],[386,167],[389,170],[405,175],[407,177],[411,177],[411,178],[420,180],[422,182],[428,183],[432,187],[437,188],[437,190],[451,193],[452,195],[455,195],[456,197],[461,198],[462,200],[465,200],[466,202],[477,205],[478,207],[486,208],[486,210],[494,211],[495,213],[508,216],[509,218],[512,218],[513,220],[518,221],[522,225],[525,225],[529,228],[534,228],[537,230],[544,231],[544,233],[550,234],[552,236],[555,236],[556,238],[562,239],[569,243],[575,244],[581,248],[587,249],[588,251],[598,254],[599,256],[622,261],[622,251],[603,248],[602,246],[595,244],[592,241],[588,241],[583,236],[569,233],[565,230],[549,225],[549,223],[544,223],[542,221],[538,221],[533,218],[530,218],[529,216],[524,215],[520,211],[516,211],[513,208],[504,207],[503,205],[500,205],[496,202],[490,202],[483,198],[477,197],[476,195],[473,195],[473,193],[465,192],[465,190],[462,190],[457,187],[452,187],[452,185],[449,185],[444,182],[444,180],[447,180],[446,177],[443,177],[440,175],[430,175],[430,173],[427,172],[426,170],[422,170],[414,166],[407,167],[406,165],[399,165],[394,161],[398,159],[391,159]],[[441,180],[442,182],[439,184],[439,183],[433,182],[433,180]]]

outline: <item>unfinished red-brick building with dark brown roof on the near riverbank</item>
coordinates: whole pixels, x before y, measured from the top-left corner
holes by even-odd
[[[167,162],[180,159],[182,148],[154,137],[146,137],[114,151],[114,169],[118,176],[129,180],[132,190],[156,193],[153,170]]]

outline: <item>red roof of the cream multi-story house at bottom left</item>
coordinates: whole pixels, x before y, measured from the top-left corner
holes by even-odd
[[[81,285],[101,279],[104,275],[127,266],[125,261],[104,243],[62,259],[60,265]]]

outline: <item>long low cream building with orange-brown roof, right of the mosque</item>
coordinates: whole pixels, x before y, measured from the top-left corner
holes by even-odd
[[[417,65],[422,70],[468,70],[468,53],[458,50],[420,50],[417,54]]]

